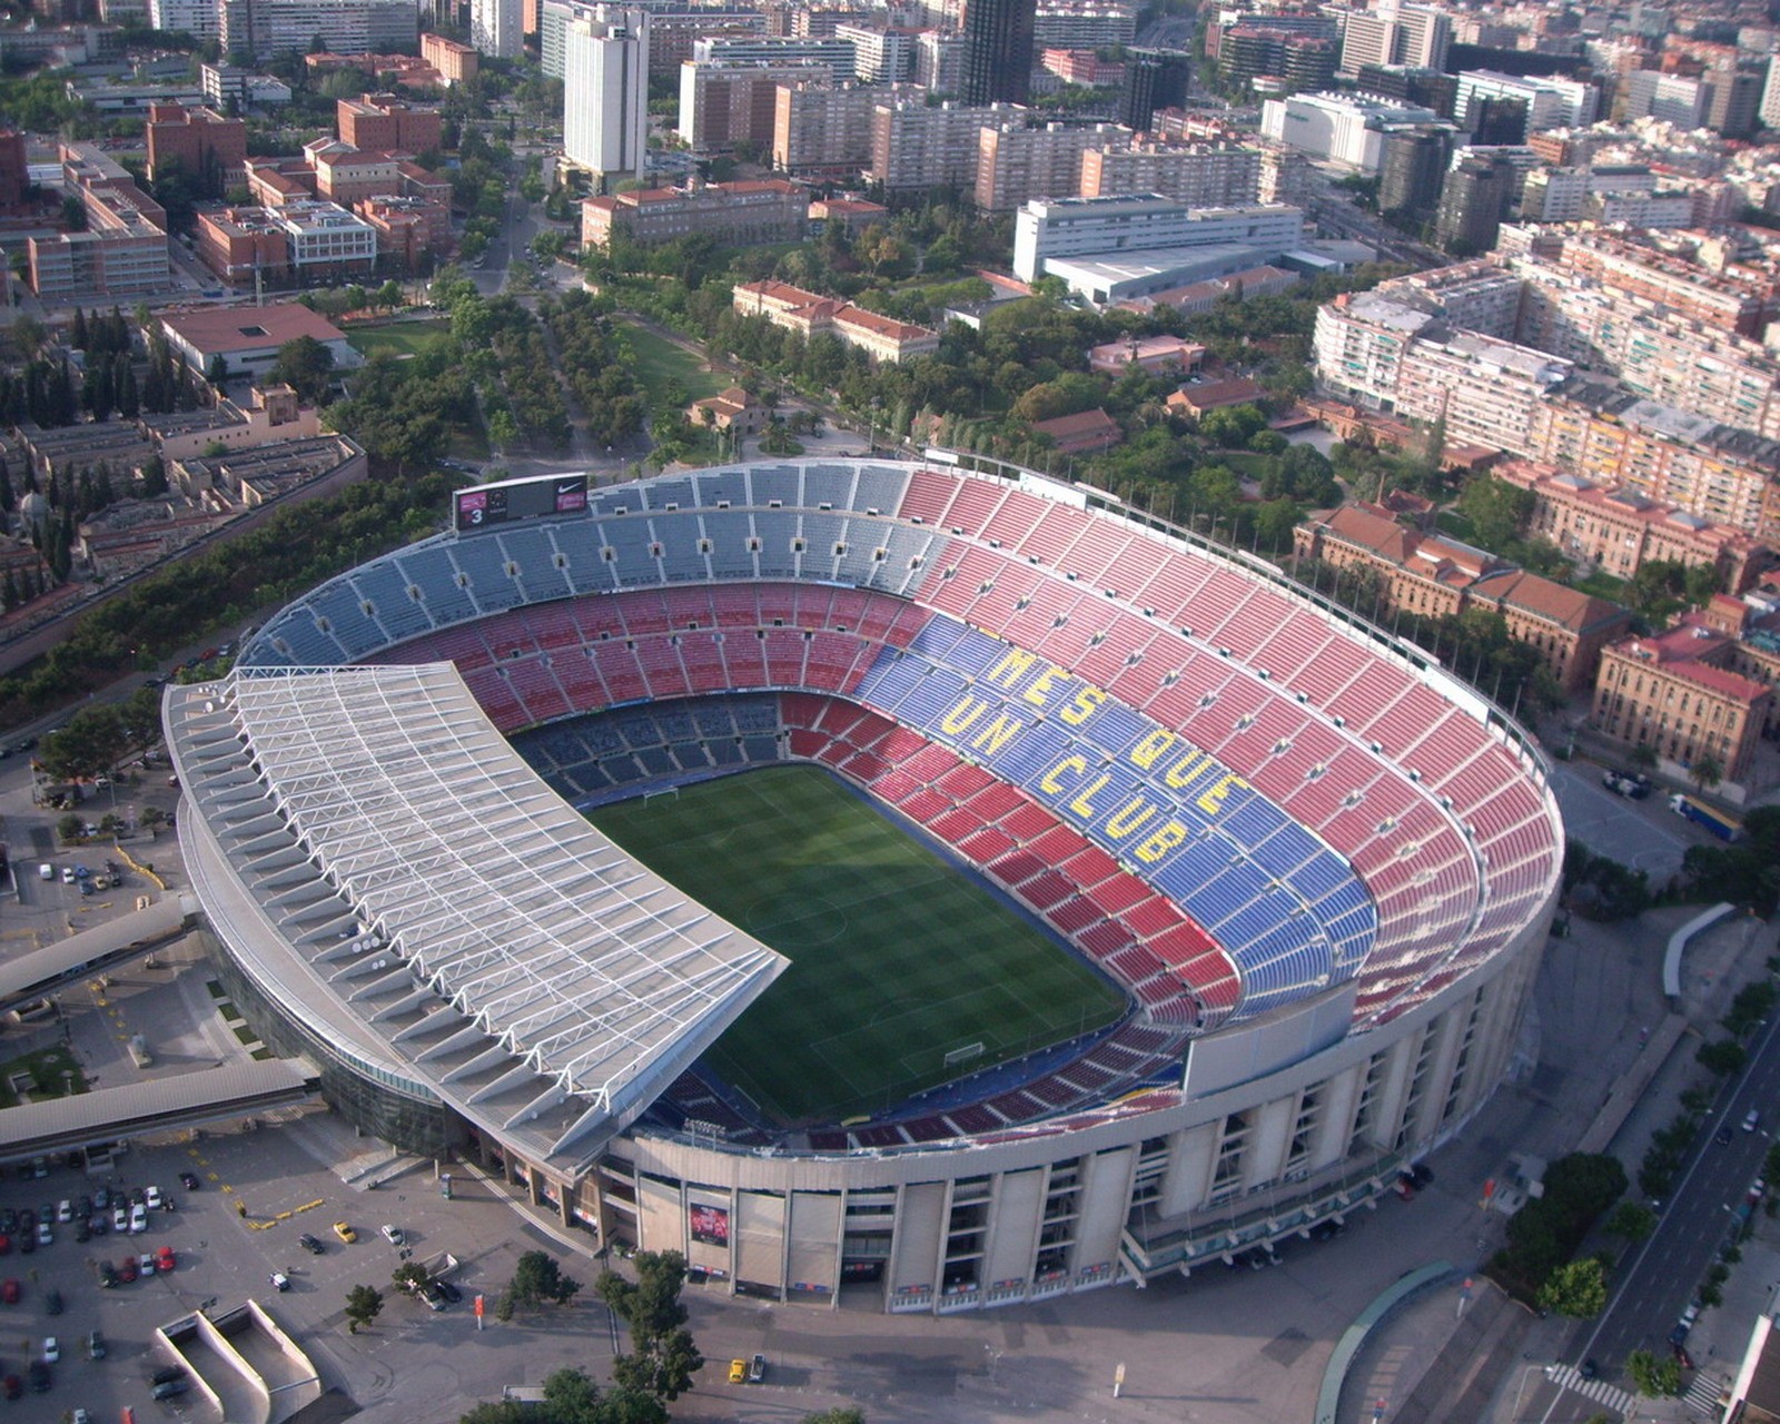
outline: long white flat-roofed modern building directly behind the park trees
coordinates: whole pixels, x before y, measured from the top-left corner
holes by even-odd
[[[1189,208],[1153,192],[1034,199],[1015,215],[1013,274],[1034,281],[1057,258],[1130,258],[1175,247],[1237,246],[1276,258],[1301,246],[1303,237],[1303,212],[1283,205]]]

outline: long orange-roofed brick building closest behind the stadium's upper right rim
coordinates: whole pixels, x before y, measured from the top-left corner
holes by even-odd
[[[1376,506],[1344,504],[1312,514],[1294,530],[1292,554],[1374,573],[1385,603],[1417,618],[1456,618],[1472,609],[1501,614],[1509,637],[1534,648],[1566,692],[1590,685],[1602,650],[1630,625],[1630,614],[1604,598],[1401,525]]]

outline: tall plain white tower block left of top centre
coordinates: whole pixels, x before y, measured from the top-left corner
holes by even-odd
[[[650,16],[600,5],[562,30],[562,151],[598,190],[643,178],[648,135]]]

